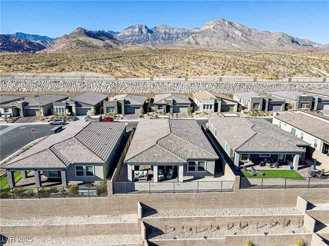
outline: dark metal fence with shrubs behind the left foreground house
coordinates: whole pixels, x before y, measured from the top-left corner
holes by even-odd
[[[107,197],[103,186],[72,185],[62,187],[2,188],[1,199]]]

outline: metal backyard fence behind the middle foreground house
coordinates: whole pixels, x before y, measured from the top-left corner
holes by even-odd
[[[117,182],[114,194],[233,192],[234,181]]]

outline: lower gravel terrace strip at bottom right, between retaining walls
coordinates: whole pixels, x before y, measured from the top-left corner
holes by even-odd
[[[244,225],[245,226],[245,225]],[[151,229],[147,234],[148,239],[188,239],[188,238],[225,238],[225,235],[254,235],[254,234],[302,234],[310,233],[303,225],[259,225],[259,226],[228,226],[208,230],[167,230]]]

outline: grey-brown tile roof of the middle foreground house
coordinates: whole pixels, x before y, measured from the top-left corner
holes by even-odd
[[[218,159],[195,120],[142,119],[124,161],[186,163],[191,158]]]

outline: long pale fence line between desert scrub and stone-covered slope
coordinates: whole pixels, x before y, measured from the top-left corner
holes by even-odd
[[[114,76],[75,76],[75,75],[12,75],[0,74],[2,80],[83,80],[83,81],[190,81],[190,82],[281,82],[281,83],[326,83],[327,78],[284,78],[262,79],[254,77],[136,77],[120,78]]]

